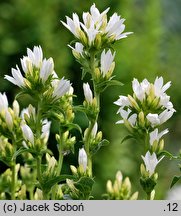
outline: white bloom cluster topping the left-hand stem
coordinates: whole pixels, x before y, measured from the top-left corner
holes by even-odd
[[[21,59],[21,67],[24,72],[22,75],[18,66],[12,68],[12,77],[5,75],[5,79],[19,86],[22,89],[36,89],[38,86],[42,89],[53,88],[52,97],[59,98],[70,90],[70,81],[62,78],[58,79],[54,71],[54,62],[52,58],[43,58],[43,51],[40,46],[34,46],[33,50],[27,49],[27,56]]]

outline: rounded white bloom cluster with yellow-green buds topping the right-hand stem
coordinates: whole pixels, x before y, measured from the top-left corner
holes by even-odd
[[[175,112],[170,96],[165,93],[170,85],[171,82],[163,85],[162,77],[157,77],[154,84],[148,82],[147,79],[141,83],[134,79],[133,97],[120,96],[114,102],[120,106],[118,113],[122,117],[122,120],[117,123],[126,121],[133,128],[147,128],[152,131],[166,122]]]

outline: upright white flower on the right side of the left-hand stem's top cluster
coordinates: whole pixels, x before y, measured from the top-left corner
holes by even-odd
[[[44,59],[42,62],[42,66],[40,69],[40,78],[42,79],[43,83],[46,82],[50,74],[52,74],[54,68],[53,59],[49,58],[48,60]]]

